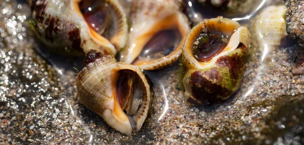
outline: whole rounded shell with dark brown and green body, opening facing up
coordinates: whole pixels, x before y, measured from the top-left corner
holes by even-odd
[[[196,54],[193,54],[193,48],[200,34],[208,34],[202,42],[209,43],[204,45],[209,52],[203,53],[213,53],[214,50],[208,47],[214,46],[211,36],[217,33],[227,36],[229,42],[221,45],[223,48],[218,49],[218,52],[208,60],[198,60]],[[229,98],[241,84],[249,45],[248,29],[240,26],[238,22],[218,17],[206,19],[196,25],[186,38],[181,59],[185,69],[183,85],[187,104],[203,104]]]

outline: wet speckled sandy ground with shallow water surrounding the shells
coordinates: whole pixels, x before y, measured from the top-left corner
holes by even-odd
[[[127,136],[110,128],[78,101],[74,84],[83,57],[48,53],[33,39],[27,5],[12,0],[0,3],[1,143],[303,143],[299,127],[303,119],[297,111],[302,110],[299,104],[303,96],[298,94],[304,92],[304,76],[291,74],[297,54],[295,43],[272,51],[253,44],[240,89],[217,104],[185,104],[179,62],[160,71],[145,71],[153,83],[153,107],[141,130]],[[277,2],[259,4],[254,9],[257,11],[234,20],[250,26],[259,10]],[[287,106],[285,115],[276,113],[284,110],[282,102]]]

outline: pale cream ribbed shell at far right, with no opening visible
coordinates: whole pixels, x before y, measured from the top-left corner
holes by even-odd
[[[264,8],[253,21],[252,33],[259,47],[273,50],[287,36],[284,5]]]

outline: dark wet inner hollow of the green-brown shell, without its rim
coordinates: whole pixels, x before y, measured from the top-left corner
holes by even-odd
[[[201,62],[211,60],[221,53],[229,41],[229,36],[222,33],[201,33],[192,47],[194,57]]]

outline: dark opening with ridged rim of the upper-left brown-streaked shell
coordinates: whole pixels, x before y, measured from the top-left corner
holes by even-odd
[[[118,0],[89,0],[76,2],[78,13],[86,21],[97,41],[107,39],[120,51],[127,42],[127,14]],[[77,8],[76,8],[77,9]]]

